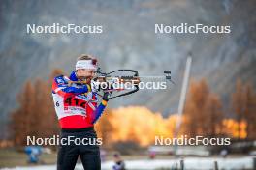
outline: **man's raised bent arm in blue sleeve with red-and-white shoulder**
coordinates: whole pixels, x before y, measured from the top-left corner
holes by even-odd
[[[87,84],[81,87],[68,86],[67,80],[65,80],[63,76],[57,76],[54,78],[52,90],[54,93],[57,93],[62,97],[80,95],[91,91],[90,86]]]

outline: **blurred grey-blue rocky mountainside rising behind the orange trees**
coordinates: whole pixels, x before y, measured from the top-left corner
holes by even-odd
[[[97,56],[104,71],[134,69],[141,75],[171,70],[176,85],[142,90],[112,100],[111,107],[146,105],[175,113],[188,53],[194,78],[206,77],[228,103],[235,81],[256,89],[256,2],[254,0],[95,0],[0,2],[1,126],[15,109],[23,83],[48,78],[50,71],[74,69],[80,53]],[[101,34],[27,34],[27,24],[101,25]],[[230,25],[229,34],[155,34],[155,24]]]

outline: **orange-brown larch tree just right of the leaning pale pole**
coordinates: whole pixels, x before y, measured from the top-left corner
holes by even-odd
[[[190,136],[216,136],[223,119],[219,97],[210,93],[206,79],[194,80],[185,105],[186,131]]]

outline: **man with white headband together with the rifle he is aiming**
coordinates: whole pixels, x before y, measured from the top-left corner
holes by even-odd
[[[118,73],[119,76],[112,76],[113,73]],[[121,73],[129,73],[129,75],[120,76]],[[164,71],[164,73],[166,76],[154,76],[153,78],[165,78],[172,82],[171,71]],[[125,91],[126,88],[114,88],[112,84],[107,89],[95,88],[95,81],[117,82],[119,85],[132,82],[133,88],[128,92],[112,96],[114,93]],[[97,59],[89,55],[81,55],[77,60],[76,70],[69,77],[56,76],[52,83],[52,96],[61,128],[61,141],[69,137],[80,140],[97,139],[93,125],[102,115],[108,100],[137,92],[140,82],[141,77],[138,71],[116,70],[104,73],[97,67]],[[98,94],[101,90],[104,92],[103,95]],[[102,97],[99,104],[98,97]],[[84,169],[101,169],[99,146],[97,144],[77,145],[74,142],[68,145],[60,144],[57,169],[73,170],[78,156],[80,156]]]

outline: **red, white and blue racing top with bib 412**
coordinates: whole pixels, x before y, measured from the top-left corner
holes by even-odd
[[[89,128],[102,115],[107,101],[97,105],[97,94],[89,85],[68,86],[68,81],[79,81],[73,71],[70,77],[56,76],[52,83],[52,97],[61,128]]]

